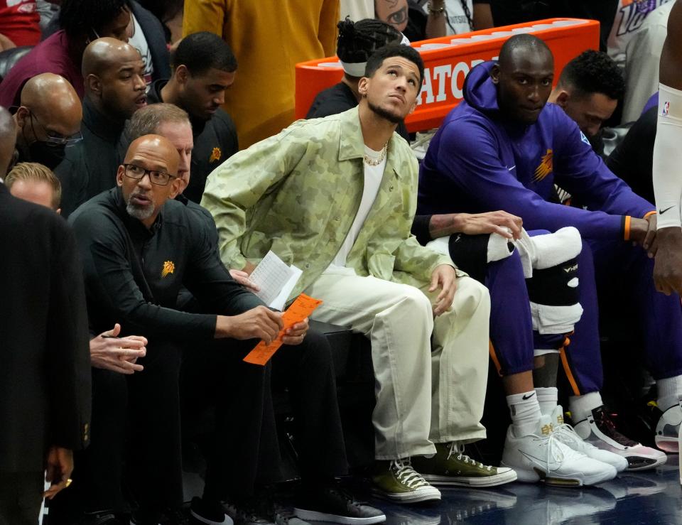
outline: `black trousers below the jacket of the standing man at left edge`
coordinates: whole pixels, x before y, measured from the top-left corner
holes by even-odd
[[[0,472],[0,525],[37,525],[45,472]]]

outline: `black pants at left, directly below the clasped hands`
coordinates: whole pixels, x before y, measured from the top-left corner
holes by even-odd
[[[70,523],[82,512],[128,512],[124,473],[141,507],[182,504],[181,352],[173,343],[152,343],[138,361],[142,372],[92,369],[90,446],[76,453],[73,484],[50,505],[51,523]]]

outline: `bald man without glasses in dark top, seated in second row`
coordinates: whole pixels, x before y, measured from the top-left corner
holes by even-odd
[[[62,183],[65,217],[83,202],[113,188],[117,144],[126,119],[146,105],[144,62],[131,45],[98,38],[83,53],[83,140],[55,169]]]

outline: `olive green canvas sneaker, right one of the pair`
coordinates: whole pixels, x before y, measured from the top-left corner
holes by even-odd
[[[433,485],[455,487],[494,487],[516,480],[516,472],[508,467],[489,467],[464,453],[464,445],[436,443],[431,458],[415,456],[414,467]]]

